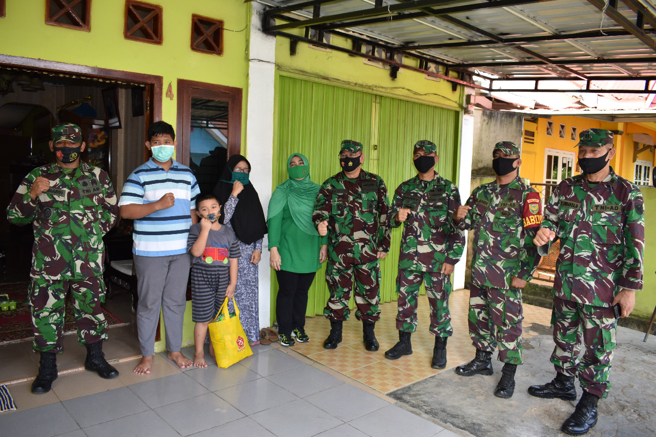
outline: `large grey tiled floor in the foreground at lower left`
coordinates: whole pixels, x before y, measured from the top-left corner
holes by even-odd
[[[10,385],[18,411],[1,413],[0,429],[12,437],[458,435],[279,344],[253,350],[228,369],[181,371],[158,354],[146,376],[131,360],[117,364],[117,379],[75,372],[45,395],[31,394],[29,382]]]

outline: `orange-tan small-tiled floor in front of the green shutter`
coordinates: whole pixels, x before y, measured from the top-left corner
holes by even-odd
[[[412,335],[413,354],[410,356],[398,360],[387,360],[384,357],[384,352],[398,341],[396,302],[381,306],[382,316],[376,323],[376,337],[380,343],[378,352],[365,350],[362,342],[362,323],[354,316],[344,322],[342,343],[337,349],[323,348],[323,340],[328,336],[330,323],[321,316],[307,318],[305,330],[312,340],[308,343],[297,343],[293,349],[379,392],[388,393],[437,373],[449,371],[474,358],[474,346],[467,326],[469,291],[459,290],[451,293],[449,308],[453,336],[447,343],[447,367],[442,370],[430,367],[435,337],[428,332],[430,310],[426,296],[419,298],[419,326],[417,332]],[[524,317],[524,337],[530,337],[533,335],[530,330],[532,323],[550,325],[551,311],[539,306],[524,305]]]

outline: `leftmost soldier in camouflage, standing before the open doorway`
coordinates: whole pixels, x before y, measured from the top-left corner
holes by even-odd
[[[116,221],[116,194],[107,173],[80,160],[84,148],[79,127],[53,127],[50,149],[56,162],[31,171],[7,207],[9,222],[32,222],[34,228],[28,296],[33,348],[41,353],[41,364],[33,393],[49,392],[57,378],[69,289],[78,341],[87,348],[85,367],[105,379],[119,375],[102,353],[107,322],[100,307],[105,291],[102,236]]]

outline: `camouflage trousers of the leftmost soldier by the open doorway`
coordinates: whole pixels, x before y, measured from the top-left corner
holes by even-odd
[[[107,339],[107,322],[100,307],[105,296],[102,277],[64,281],[31,278],[30,306],[35,351],[60,353],[64,350],[62,331],[68,289],[73,298],[79,343],[92,344]]]

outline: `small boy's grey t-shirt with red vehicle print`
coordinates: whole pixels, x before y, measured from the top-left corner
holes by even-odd
[[[201,224],[192,224],[187,239],[187,250],[191,251],[192,246],[201,233]],[[194,264],[201,266],[230,266],[230,258],[241,257],[239,249],[239,240],[232,229],[228,226],[221,226],[219,230],[209,230],[205,250],[200,257],[194,257]]]

